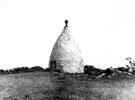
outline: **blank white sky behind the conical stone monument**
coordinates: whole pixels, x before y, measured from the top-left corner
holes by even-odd
[[[0,0],[0,69],[48,67],[65,19],[85,64],[117,67],[135,58],[134,0]]]

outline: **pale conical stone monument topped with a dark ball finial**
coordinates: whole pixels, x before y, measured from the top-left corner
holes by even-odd
[[[58,37],[49,61],[49,68],[66,73],[83,73],[83,59],[78,45],[68,29],[68,20],[65,20],[65,27]]]

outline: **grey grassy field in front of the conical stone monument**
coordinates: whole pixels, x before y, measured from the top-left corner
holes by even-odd
[[[49,72],[1,75],[0,100],[135,100],[135,78]]]

